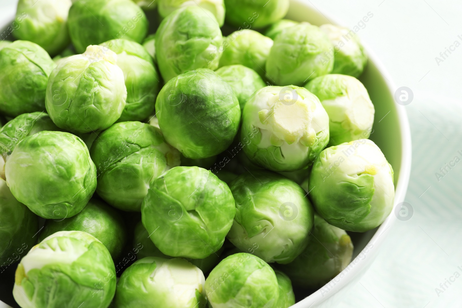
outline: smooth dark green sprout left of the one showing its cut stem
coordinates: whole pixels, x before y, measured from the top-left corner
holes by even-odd
[[[225,151],[241,118],[231,86],[205,68],[170,79],[157,97],[156,112],[165,140],[188,158]]]

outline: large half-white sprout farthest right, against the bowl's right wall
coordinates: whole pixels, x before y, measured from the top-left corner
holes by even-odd
[[[355,232],[383,223],[395,198],[393,169],[378,146],[368,139],[322,151],[313,164],[309,188],[322,218],[335,227]]]

